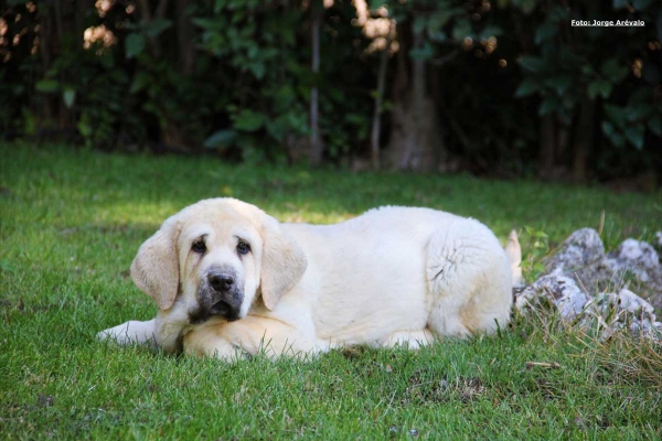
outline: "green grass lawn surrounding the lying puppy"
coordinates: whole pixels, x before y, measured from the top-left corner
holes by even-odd
[[[0,153],[0,439],[662,437],[660,346],[600,344],[554,318],[515,318],[498,336],[416,353],[351,348],[308,363],[225,364],[94,338],[154,314],[128,267],[167,216],[200,198],[233,195],[281,220],[313,223],[425,205],[479,218],[502,240],[531,226],[552,244],[597,227],[605,211],[613,247],[660,229],[660,193],[53,146]]]

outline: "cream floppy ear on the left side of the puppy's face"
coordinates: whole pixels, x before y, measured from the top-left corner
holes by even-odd
[[[179,259],[174,222],[163,223],[138,249],[131,263],[131,278],[142,292],[154,299],[160,310],[172,308],[179,290]]]

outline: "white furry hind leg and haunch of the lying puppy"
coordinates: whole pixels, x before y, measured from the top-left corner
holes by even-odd
[[[435,232],[427,247],[428,327],[439,337],[491,333],[510,320],[512,276],[492,232],[462,219]]]

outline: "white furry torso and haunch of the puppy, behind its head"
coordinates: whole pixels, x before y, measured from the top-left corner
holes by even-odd
[[[341,224],[285,227],[309,260],[291,294],[310,301],[319,338],[386,344],[394,333],[466,336],[509,321],[509,260],[477,220],[382,207]]]

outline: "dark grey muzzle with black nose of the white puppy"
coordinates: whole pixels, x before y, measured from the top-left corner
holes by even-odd
[[[239,319],[244,301],[243,287],[232,270],[212,269],[197,293],[200,309],[191,314],[192,323],[216,316],[227,321]]]

